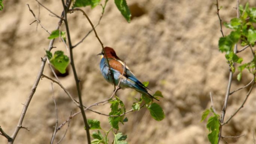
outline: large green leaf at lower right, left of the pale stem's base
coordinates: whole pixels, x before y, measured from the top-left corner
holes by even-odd
[[[211,116],[206,125],[207,129],[210,131],[208,134],[208,139],[211,144],[217,144],[218,138],[219,138],[219,115],[214,114],[214,116]]]

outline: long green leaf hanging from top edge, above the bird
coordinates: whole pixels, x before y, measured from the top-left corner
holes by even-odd
[[[127,22],[131,22],[131,12],[127,6],[126,0],[115,0],[115,4]]]

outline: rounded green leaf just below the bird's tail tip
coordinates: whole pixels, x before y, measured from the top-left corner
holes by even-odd
[[[154,102],[152,105],[149,105],[149,107],[147,108],[149,109],[153,119],[157,121],[161,121],[165,118],[163,109],[157,103]]]

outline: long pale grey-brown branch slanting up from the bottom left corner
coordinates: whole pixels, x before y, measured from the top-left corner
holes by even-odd
[[[66,4],[67,7],[70,7],[70,3],[67,3]],[[60,21],[58,22],[58,26],[57,26],[57,30],[60,28],[60,25],[62,23],[63,19],[60,19]],[[49,47],[48,47],[48,50],[51,51],[52,47],[53,47],[53,43],[54,43],[54,39],[52,39],[49,43]],[[24,120],[24,117],[25,117],[25,114],[27,112],[27,109],[28,109],[28,105],[30,104],[30,101],[31,99],[33,98],[33,95],[34,93],[36,92],[36,88],[37,88],[37,85],[40,81],[40,77],[42,76],[43,74],[43,69],[45,68],[45,64],[46,64],[46,56],[44,56],[44,58],[42,58],[42,63],[41,63],[41,66],[40,66],[40,69],[39,69],[39,72],[37,74],[37,77],[36,77],[36,80],[34,82],[34,85],[30,91],[30,94],[28,95],[28,98],[27,100],[25,101],[25,104],[23,106],[23,109],[22,109],[22,112],[21,112],[21,116],[19,117],[19,122],[18,122],[18,125],[15,129],[15,131],[13,132],[11,138],[12,138],[12,141],[9,141],[8,144],[13,144],[19,130],[22,128],[22,122]]]

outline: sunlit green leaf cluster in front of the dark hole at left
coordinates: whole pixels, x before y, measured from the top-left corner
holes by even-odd
[[[63,51],[58,50],[54,53],[54,56],[52,56],[52,53],[46,50],[46,56],[54,68],[60,71],[60,73],[64,74],[66,72],[66,68],[69,64],[69,58],[64,55]]]

